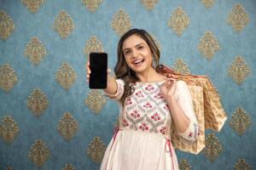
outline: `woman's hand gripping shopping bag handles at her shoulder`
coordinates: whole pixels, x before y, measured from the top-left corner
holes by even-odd
[[[163,95],[164,99],[170,99],[173,97],[176,90],[177,82],[175,79],[170,78],[164,82],[160,88],[160,93]]]

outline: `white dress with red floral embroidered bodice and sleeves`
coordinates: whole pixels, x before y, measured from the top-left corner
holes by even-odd
[[[172,116],[160,86],[164,82],[136,82],[135,91],[125,99],[124,82],[116,80],[116,94],[106,94],[119,102],[119,130],[114,133],[102,160],[101,170],[177,170],[178,163],[172,147]],[[194,141],[198,126],[186,82],[177,81],[175,99],[190,123],[179,133],[184,139]]]

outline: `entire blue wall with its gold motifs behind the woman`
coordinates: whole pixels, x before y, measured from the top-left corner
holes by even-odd
[[[161,63],[209,76],[228,116],[199,155],[177,150],[181,169],[256,169],[254,0],[31,2],[0,0],[0,169],[100,167],[118,106],[88,88],[85,55],[105,51],[113,69],[133,27]]]

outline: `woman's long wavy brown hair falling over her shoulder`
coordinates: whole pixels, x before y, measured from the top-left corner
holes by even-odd
[[[125,82],[124,94],[121,97],[121,102],[123,105],[124,105],[125,99],[134,92],[134,88],[131,85],[131,83],[139,81],[135,71],[132,71],[129,68],[129,66],[126,64],[125,55],[123,54],[123,43],[125,42],[125,39],[127,39],[128,37],[131,37],[132,35],[141,37],[145,42],[148,43],[148,47],[150,48],[155,66],[159,65],[159,59],[160,59],[160,50],[155,44],[153,38],[148,34],[147,31],[142,29],[131,29],[130,31],[127,31],[120,38],[118,43],[118,48],[117,48],[118,60],[114,67],[114,73],[117,78],[120,78]]]

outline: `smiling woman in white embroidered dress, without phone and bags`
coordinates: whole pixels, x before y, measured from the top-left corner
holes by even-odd
[[[119,129],[108,144],[102,170],[177,170],[172,127],[188,141],[197,138],[189,89],[155,71],[159,59],[160,50],[147,31],[132,29],[120,38],[117,79],[108,75],[104,89],[119,103]],[[88,82],[89,63],[86,70]]]

